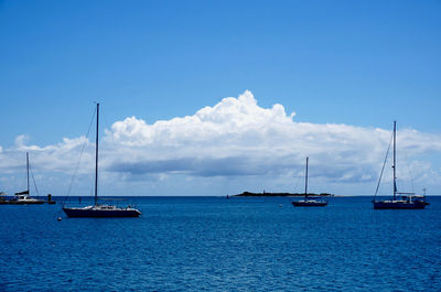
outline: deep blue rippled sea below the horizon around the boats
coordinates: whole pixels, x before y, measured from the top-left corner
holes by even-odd
[[[422,210],[370,201],[116,202],[139,218],[0,205],[0,291],[441,291],[441,197]]]

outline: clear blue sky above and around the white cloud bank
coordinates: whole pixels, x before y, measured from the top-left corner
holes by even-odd
[[[0,147],[12,153],[21,134],[40,148],[78,138],[95,100],[110,129],[132,116],[192,116],[247,89],[295,122],[390,130],[397,119],[438,139],[440,14],[440,1],[0,1]],[[433,149],[413,158],[438,173]],[[204,180],[205,190],[225,177]],[[202,179],[175,181],[186,180]]]

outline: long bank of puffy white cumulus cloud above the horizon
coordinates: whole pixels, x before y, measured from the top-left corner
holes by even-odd
[[[182,185],[197,181],[209,190],[211,182],[219,186],[225,184],[219,177],[229,177],[236,182],[240,180],[244,183],[237,184],[249,186],[250,191],[252,185],[275,186],[280,182],[277,191],[292,191],[286,187],[292,186],[293,177],[303,175],[308,155],[311,176],[321,182],[325,192],[329,191],[326,185],[337,185],[334,191],[345,184],[375,187],[390,141],[390,129],[297,122],[294,117],[294,112],[286,112],[279,104],[260,107],[248,90],[237,98],[227,97],[217,105],[204,107],[192,116],[151,125],[128,117],[106,130],[100,143],[100,165],[107,174],[101,177],[109,177],[114,183],[163,183],[162,190],[175,190],[175,181]],[[421,184],[430,177],[440,177],[439,166],[432,167],[430,162],[418,156],[440,153],[441,136],[412,129],[400,129],[397,136],[398,153],[406,153],[406,156],[398,156],[398,162],[412,167],[411,175],[406,173],[408,167],[399,167],[400,177],[412,176]],[[1,173],[22,171],[23,153],[28,151],[41,173],[67,176],[76,169],[83,147],[83,161],[88,163],[80,164],[78,173],[93,173],[94,144],[85,137],[64,138],[46,147],[32,145],[29,141],[26,136],[19,136],[14,147],[0,147]]]

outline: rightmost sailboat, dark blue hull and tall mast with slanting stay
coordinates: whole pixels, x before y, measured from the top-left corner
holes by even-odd
[[[377,201],[376,199],[376,195],[378,192],[378,187],[379,187],[379,182],[381,181],[381,175],[383,175],[383,171],[381,171],[381,175],[379,177],[378,181],[378,185],[377,185],[377,191],[374,195],[374,209],[422,209],[426,207],[426,205],[428,205],[428,203],[426,202],[426,196],[421,196],[421,195],[416,195],[415,193],[400,193],[397,192],[397,175],[396,175],[396,171],[397,171],[397,161],[396,161],[396,153],[397,153],[397,149],[396,149],[396,142],[397,142],[397,121],[394,121],[394,165],[392,165],[392,170],[394,170],[394,197],[391,199],[385,199],[385,201]],[[386,155],[387,159],[387,155]],[[386,163],[386,160],[385,160]],[[383,165],[384,167],[384,165]],[[397,195],[400,195],[400,197],[398,198]]]

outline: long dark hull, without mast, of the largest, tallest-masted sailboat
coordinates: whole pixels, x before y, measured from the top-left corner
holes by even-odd
[[[119,208],[116,206],[87,206],[84,208],[63,208],[68,217],[139,217],[141,213],[136,208]]]

